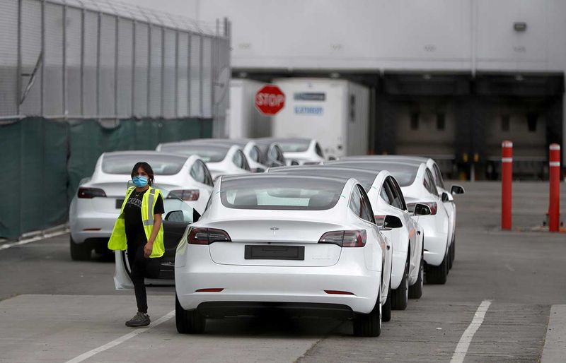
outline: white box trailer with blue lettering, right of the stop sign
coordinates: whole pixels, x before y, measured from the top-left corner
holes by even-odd
[[[316,138],[324,156],[365,155],[369,88],[329,78],[278,78],[285,106],[273,117],[276,138]]]

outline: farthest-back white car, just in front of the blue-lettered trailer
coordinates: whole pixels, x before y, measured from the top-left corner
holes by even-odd
[[[320,144],[313,138],[269,138],[281,145],[287,165],[320,165],[325,157]]]

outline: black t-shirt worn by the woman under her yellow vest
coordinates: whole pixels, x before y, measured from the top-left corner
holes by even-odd
[[[134,189],[124,206],[124,224],[128,247],[139,246],[139,244],[146,244],[147,242],[144,222],[141,218],[141,199],[148,190],[149,189],[146,189],[138,193]],[[163,209],[163,198],[161,198],[161,194],[159,194],[154,207],[154,215],[163,213],[165,213]]]

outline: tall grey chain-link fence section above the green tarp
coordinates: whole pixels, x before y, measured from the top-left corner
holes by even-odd
[[[0,0],[0,119],[196,117],[223,129],[229,47],[227,20],[207,27],[113,0]]]

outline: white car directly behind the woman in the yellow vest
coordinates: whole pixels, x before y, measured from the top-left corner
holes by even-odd
[[[112,227],[120,213],[132,168],[148,162],[155,183],[203,213],[212,191],[212,177],[204,162],[190,157],[158,153],[153,150],[117,151],[98,157],[90,179],[83,179],[69,206],[71,258],[88,260],[91,251],[108,251]],[[163,193],[163,198],[170,197]]]

